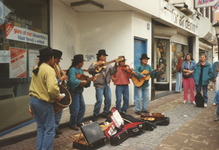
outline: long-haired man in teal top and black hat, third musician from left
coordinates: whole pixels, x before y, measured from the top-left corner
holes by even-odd
[[[72,59],[72,65],[66,72],[68,76],[67,89],[72,97],[72,103],[69,106],[71,114],[69,124],[70,128],[76,131],[79,130],[77,126],[82,122],[85,113],[85,103],[82,93],[84,87],[89,87],[91,83],[87,80],[79,80],[76,77],[77,74],[83,74],[83,70],[81,69],[83,65],[84,56],[82,54],[75,55],[74,59]]]

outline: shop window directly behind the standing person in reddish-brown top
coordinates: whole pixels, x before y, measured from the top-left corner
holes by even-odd
[[[172,43],[172,82],[176,81],[176,65],[178,63],[178,58],[183,57],[185,58],[185,55],[188,53],[188,46],[178,44],[178,43]]]

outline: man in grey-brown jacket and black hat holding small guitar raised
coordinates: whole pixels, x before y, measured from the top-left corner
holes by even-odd
[[[92,63],[89,68],[88,72],[94,76],[95,70],[98,68],[98,66],[102,66],[103,62],[106,61],[106,51],[104,49],[101,49],[98,51],[97,55],[97,63]],[[104,100],[104,110],[103,110],[103,117],[107,117],[109,114],[109,109],[111,106],[111,89],[110,89],[110,81],[111,81],[111,75],[114,75],[117,72],[117,62],[118,60],[115,59],[115,65],[112,67],[111,65],[107,65],[106,68],[102,69],[101,77],[98,78],[96,81],[94,81],[94,86],[96,89],[96,103],[94,105],[94,111],[93,111],[93,121],[97,121],[100,108],[102,105],[103,95],[105,97]]]

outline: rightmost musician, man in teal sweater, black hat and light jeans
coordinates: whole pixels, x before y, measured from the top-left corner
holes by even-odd
[[[150,65],[148,65],[148,60],[150,58],[147,56],[147,54],[141,55],[141,64],[137,65],[134,69],[134,71],[138,74],[138,76],[134,75],[137,78],[144,78],[146,79],[145,75],[142,75],[141,72],[143,70],[148,70],[149,72],[153,71]],[[159,75],[159,72],[161,69],[158,69],[156,72],[153,72],[151,74],[151,78],[157,78]],[[140,87],[135,87],[135,113],[137,115],[141,115],[142,113],[149,113],[147,111],[147,106],[149,103],[149,80],[145,80],[144,83]],[[141,101],[142,101],[142,94],[143,94],[143,105],[141,109]],[[142,110],[142,111],[141,111]],[[140,112],[141,111],[141,112]]]

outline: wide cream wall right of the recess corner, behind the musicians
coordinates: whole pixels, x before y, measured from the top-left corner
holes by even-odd
[[[83,68],[87,69],[96,62],[99,49],[105,49],[107,61],[125,55],[130,62],[133,58],[131,52],[131,11],[125,12],[80,12],[78,13],[79,49],[77,53],[85,55],[87,60]],[[111,65],[114,65],[113,63]],[[111,83],[112,104],[115,104],[115,86]],[[84,91],[86,104],[94,104],[95,88],[93,83]]]

